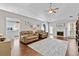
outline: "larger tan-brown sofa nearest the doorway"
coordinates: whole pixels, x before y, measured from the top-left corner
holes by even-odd
[[[37,32],[34,33],[33,31],[22,31],[20,35],[20,41],[25,44],[39,39],[39,34]]]

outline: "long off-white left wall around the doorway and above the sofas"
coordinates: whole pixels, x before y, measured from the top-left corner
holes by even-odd
[[[17,18],[18,20],[21,20],[21,31],[29,30],[29,26],[25,24],[25,21],[27,23],[29,20],[31,24],[37,24],[37,25],[41,25],[42,23],[42,21],[36,20],[34,18],[30,18],[30,17],[14,14],[12,12],[0,10],[0,34],[4,34],[4,35],[6,34],[6,17]]]

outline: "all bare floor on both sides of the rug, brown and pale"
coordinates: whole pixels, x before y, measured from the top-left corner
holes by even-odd
[[[14,40],[14,48],[12,49],[12,56],[41,56],[38,52],[33,50],[32,48],[28,47],[19,42],[19,40]],[[76,45],[75,39],[68,39],[68,50],[66,56],[77,56],[78,50]]]

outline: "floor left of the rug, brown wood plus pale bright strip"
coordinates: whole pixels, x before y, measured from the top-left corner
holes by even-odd
[[[38,52],[28,47],[25,44],[19,42],[19,39],[16,39],[13,42],[12,46],[12,56],[41,56]]]

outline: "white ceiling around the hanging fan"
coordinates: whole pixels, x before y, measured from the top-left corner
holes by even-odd
[[[53,3],[59,8],[56,14],[49,14],[48,7],[49,3],[0,3],[0,9],[42,21],[75,20],[79,13],[79,3]]]

